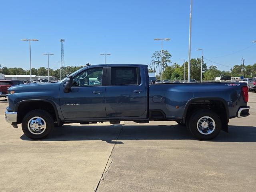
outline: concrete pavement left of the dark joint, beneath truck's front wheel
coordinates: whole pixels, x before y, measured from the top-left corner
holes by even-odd
[[[4,120],[0,100],[0,191],[92,192],[98,185],[122,125],[55,128],[46,140],[30,140]]]

